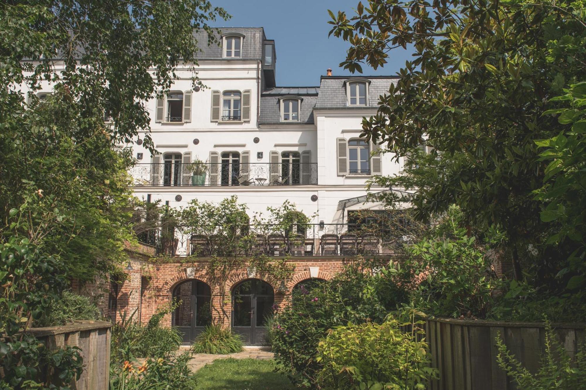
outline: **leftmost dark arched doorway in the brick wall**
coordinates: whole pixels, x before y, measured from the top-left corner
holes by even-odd
[[[183,343],[190,344],[212,323],[212,290],[201,280],[185,280],[173,289],[173,299],[181,303],[173,310],[171,323],[183,333]]]

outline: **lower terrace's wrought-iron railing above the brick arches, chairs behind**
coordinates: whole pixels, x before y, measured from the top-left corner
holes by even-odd
[[[172,256],[356,256],[393,255],[414,240],[411,224],[238,225],[206,233],[193,227],[139,234],[159,254]]]

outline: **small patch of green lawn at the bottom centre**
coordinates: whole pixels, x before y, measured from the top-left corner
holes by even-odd
[[[273,372],[272,360],[219,359],[196,372],[197,390],[295,389],[285,375]]]

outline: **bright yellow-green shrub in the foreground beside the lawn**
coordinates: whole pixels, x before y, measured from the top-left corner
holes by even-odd
[[[397,320],[339,326],[320,341],[316,361],[323,365],[323,389],[427,388],[436,369],[428,367],[427,344],[398,329]]]

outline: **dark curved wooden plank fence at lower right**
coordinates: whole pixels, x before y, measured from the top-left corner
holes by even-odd
[[[586,324],[553,324],[558,340],[574,357],[586,342]],[[498,367],[496,337],[505,340],[510,353],[530,372],[539,369],[545,344],[543,323],[432,319],[425,321],[431,365],[440,380],[430,390],[513,390],[505,371]]]

